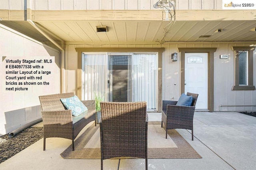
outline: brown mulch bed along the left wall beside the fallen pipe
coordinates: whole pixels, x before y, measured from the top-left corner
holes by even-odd
[[[43,137],[43,127],[29,127],[12,138],[8,138],[8,134],[1,136],[0,164]]]

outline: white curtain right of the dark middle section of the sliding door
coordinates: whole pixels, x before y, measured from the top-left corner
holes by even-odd
[[[156,54],[132,57],[132,101],[146,101],[147,109],[156,109]]]

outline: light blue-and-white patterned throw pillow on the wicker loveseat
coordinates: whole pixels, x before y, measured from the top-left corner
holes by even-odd
[[[73,116],[78,116],[84,111],[88,110],[86,106],[81,102],[81,100],[75,95],[71,98],[60,99],[67,109],[72,111]]]

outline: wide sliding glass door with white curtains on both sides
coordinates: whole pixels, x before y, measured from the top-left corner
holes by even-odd
[[[146,101],[147,109],[156,109],[156,53],[85,53],[82,58],[84,100],[101,94],[105,101]]]

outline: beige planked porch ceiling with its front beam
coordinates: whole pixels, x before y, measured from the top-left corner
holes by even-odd
[[[132,14],[123,12],[120,16],[116,13],[115,15],[111,13],[112,16],[110,13],[98,14],[98,16],[90,14],[88,17],[81,18],[80,14],[77,17],[76,15],[70,17],[68,13],[62,16],[52,15],[48,11],[40,13],[34,11],[30,18],[39,29],[58,43],[158,44],[180,41],[256,41],[255,10],[251,14],[241,11],[237,12],[238,14],[232,12],[236,15],[234,16],[236,20],[230,17],[230,13],[225,13],[229,14],[226,15],[226,18],[219,18],[221,14],[206,18],[205,16],[196,16],[194,13],[188,14],[186,11],[186,13],[176,12],[176,21],[164,21],[162,11],[161,13],[159,11],[145,12],[145,14],[139,12]],[[140,16],[136,17],[136,14],[140,14]],[[212,15],[209,12],[198,13],[198,15],[203,14]],[[243,17],[238,17],[242,14],[244,14]],[[16,19],[10,19],[10,16],[8,18],[3,18],[0,23],[38,41],[49,41],[26,21],[28,18],[25,20],[24,16],[23,19],[20,19],[22,16],[16,17]],[[106,26],[107,32],[97,33],[96,26]],[[222,29],[222,32],[214,32],[217,29]],[[251,29],[254,31],[250,31]],[[200,37],[202,35],[210,35],[210,37]]]

